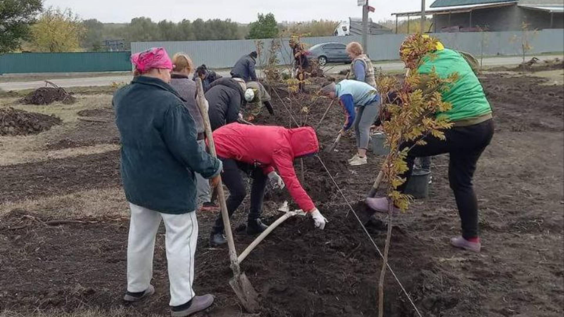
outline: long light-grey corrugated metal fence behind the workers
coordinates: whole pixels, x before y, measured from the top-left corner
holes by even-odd
[[[521,55],[521,32],[460,32],[434,33],[432,36],[440,38],[445,46],[470,52],[476,56],[513,56]],[[384,34],[369,36],[368,54],[372,60],[399,59],[399,46],[406,34]],[[532,49],[527,54],[564,51],[564,30],[548,29],[530,32]],[[265,43],[265,51],[270,46],[271,39],[261,40]],[[361,41],[360,36],[308,37],[303,42],[312,46],[324,42],[350,43]],[[151,47],[162,46],[169,52],[187,52],[196,65],[206,64],[208,67],[226,68],[244,54],[255,50],[255,41],[250,39],[230,41],[187,41],[187,42],[134,42],[131,43],[132,52],[140,52]],[[291,59],[288,39],[283,39],[282,53],[277,54],[280,64],[287,64]],[[265,54],[266,55],[266,54]],[[262,60],[266,60],[263,56]]]

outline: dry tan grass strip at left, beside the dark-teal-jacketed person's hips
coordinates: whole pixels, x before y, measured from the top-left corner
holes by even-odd
[[[14,209],[22,209],[52,219],[129,217],[129,206],[121,187],[6,202],[0,204],[0,218]]]

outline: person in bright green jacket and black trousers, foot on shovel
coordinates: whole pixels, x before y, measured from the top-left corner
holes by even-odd
[[[398,190],[403,192],[405,189],[416,157],[448,153],[450,155],[448,180],[455,194],[462,224],[462,236],[453,237],[451,243],[458,248],[479,252],[481,242],[478,237],[478,201],[472,186],[472,178],[478,158],[490,144],[493,136],[492,109],[478,77],[459,52],[445,49],[440,42],[436,43],[435,49],[431,51],[413,50],[413,47],[418,47],[414,45],[415,43],[428,41],[433,39],[421,34],[409,36],[400,48],[400,57],[410,71],[416,71],[421,75],[421,82],[425,82],[433,69],[441,78],[458,73],[459,80],[453,83],[450,90],[441,92],[443,100],[452,104],[452,109],[435,114],[435,116],[447,116],[454,126],[444,131],[446,140],[432,136],[425,137],[427,144],[414,146],[409,151],[407,156],[409,170],[403,175],[406,182],[398,187]],[[402,148],[411,146],[413,144],[404,144]],[[366,202],[377,212],[387,212],[386,197],[369,198]]]

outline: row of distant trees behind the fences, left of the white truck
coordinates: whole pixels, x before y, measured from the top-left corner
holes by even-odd
[[[131,42],[331,36],[337,25],[326,20],[279,24],[272,13],[258,14],[257,21],[249,25],[229,19],[155,22],[149,17],[135,17],[130,23],[102,23],[82,20],[69,8],[43,8],[42,4],[42,0],[0,0],[0,54],[105,51],[104,41],[111,40],[120,45],[123,42],[121,46],[127,50]]]

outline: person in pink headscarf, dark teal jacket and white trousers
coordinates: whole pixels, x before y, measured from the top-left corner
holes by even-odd
[[[151,296],[155,236],[165,223],[171,315],[183,317],[211,306],[195,296],[198,239],[196,178],[219,182],[222,163],[197,143],[196,124],[169,85],[173,64],[162,48],[131,56],[136,74],[116,91],[112,104],[121,139],[121,177],[131,209],[127,241],[127,292],[136,302]]]

